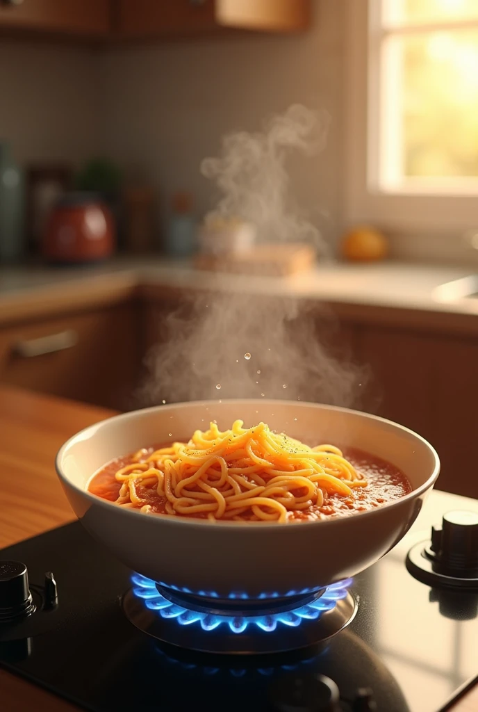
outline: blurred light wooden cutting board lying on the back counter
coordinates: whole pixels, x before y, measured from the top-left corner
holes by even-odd
[[[194,265],[210,272],[281,277],[308,271],[316,257],[314,248],[307,244],[267,244],[244,252],[200,253]]]

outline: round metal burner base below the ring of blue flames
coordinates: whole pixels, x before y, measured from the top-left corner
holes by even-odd
[[[181,625],[176,618],[161,617],[159,611],[149,609],[132,590],[124,595],[122,608],[135,627],[163,643],[191,651],[227,655],[264,655],[307,648],[339,633],[357,612],[356,600],[347,592],[334,607],[321,611],[315,619],[302,620],[297,627],[283,625],[274,632],[266,632],[250,624],[244,632],[234,633],[226,625],[205,631],[195,624]]]

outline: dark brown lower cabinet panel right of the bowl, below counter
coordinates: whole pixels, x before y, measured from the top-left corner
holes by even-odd
[[[478,340],[362,327],[357,356],[370,370],[363,409],[430,441],[441,461],[439,489],[478,498]]]

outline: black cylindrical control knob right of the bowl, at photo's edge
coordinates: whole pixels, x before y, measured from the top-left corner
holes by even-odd
[[[432,529],[432,552],[444,572],[478,569],[478,513],[455,510],[443,516],[442,528]]]

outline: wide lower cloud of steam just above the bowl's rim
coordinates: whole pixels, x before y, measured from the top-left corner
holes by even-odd
[[[327,352],[334,323],[319,323],[317,305],[307,310],[290,298],[191,296],[166,319],[144,395],[152,403],[265,397],[350,405],[359,374]]]

